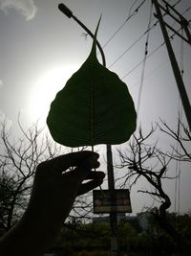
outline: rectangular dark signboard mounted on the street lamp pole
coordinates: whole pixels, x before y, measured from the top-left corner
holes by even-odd
[[[132,213],[128,189],[115,190],[116,199],[112,200],[109,190],[94,190],[94,213]]]

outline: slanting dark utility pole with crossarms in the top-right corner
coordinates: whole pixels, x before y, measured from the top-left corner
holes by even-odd
[[[187,119],[187,123],[189,126],[189,129],[191,130],[191,106],[190,106],[190,102],[185,90],[185,86],[183,83],[183,80],[181,78],[180,75],[180,68],[177,62],[177,59],[175,57],[172,45],[171,45],[171,41],[169,38],[169,35],[167,33],[166,27],[169,28],[171,31],[173,31],[176,35],[179,35],[185,42],[187,42],[188,44],[191,45],[191,35],[190,32],[188,30],[188,25],[189,22],[179,13],[177,12],[170,4],[168,4],[165,0],[161,0],[161,2],[164,4],[160,5],[158,0],[152,0],[154,5],[155,5],[155,9],[157,14],[155,14],[155,16],[159,19],[159,25],[161,28],[161,32],[162,35],[164,37],[164,41],[166,44],[166,48],[168,51],[168,56],[170,58],[170,62],[171,62],[171,66],[174,72],[174,76],[175,79],[177,81],[177,85],[178,85],[178,90],[180,93],[180,99],[181,99],[181,104],[183,106],[183,110]],[[171,18],[173,18],[175,21],[179,22],[181,28],[184,30],[185,35],[187,37],[184,37],[183,35],[180,35],[180,33],[178,33],[175,29],[173,29],[170,25],[168,25],[168,23],[166,23],[163,20],[163,16],[161,14],[161,11],[164,11],[165,14],[169,15]],[[175,16],[176,15],[176,16]]]

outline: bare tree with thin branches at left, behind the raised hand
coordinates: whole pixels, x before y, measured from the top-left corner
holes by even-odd
[[[4,230],[10,229],[26,209],[37,165],[60,153],[37,124],[25,130],[18,118],[18,125],[22,134],[15,140],[7,121],[1,124],[0,227]]]

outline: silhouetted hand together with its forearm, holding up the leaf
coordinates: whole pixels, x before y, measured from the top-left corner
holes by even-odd
[[[99,186],[104,173],[98,154],[79,151],[41,163],[36,170],[32,196],[22,219],[0,241],[2,256],[41,256],[52,246],[74,199]],[[69,171],[75,167],[73,171]],[[84,180],[91,179],[83,184]]]

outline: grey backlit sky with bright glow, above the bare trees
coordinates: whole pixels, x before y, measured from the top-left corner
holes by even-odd
[[[191,19],[190,0],[168,2],[177,3],[176,10]],[[73,19],[58,10],[59,3],[61,1],[0,0],[0,118],[6,116],[12,126],[16,126],[19,112],[27,127],[37,119],[46,126],[55,93],[90,53],[92,39],[84,35]],[[97,38],[103,47],[107,67],[126,82],[135,105],[139,104],[138,125],[148,131],[151,124],[161,118],[176,127],[179,93],[166,48],[161,46],[163,37],[159,23],[153,26],[157,20],[153,15],[155,8],[151,10],[151,1],[65,0],[63,3],[92,32],[102,14]],[[138,12],[135,12],[137,8]],[[152,29],[145,33],[149,28],[150,13]],[[166,21],[175,29],[180,28],[171,18],[166,17]],[[143,66],[146,39],[149,58]],[[173,36],[172,45],[191,98],[190,46],[182,43],[177,35]],[[98,58],[101,62],[99,54]],[[162,137],[160,141],[166,143]],[[189,169],[184,168],[180,180],[181,212],[191,210]],[[173,186],[167,186],[172,198]],[[137,190],[138,187],[131,193],[134,213],[146,204],[145,195],[140,196]]]

